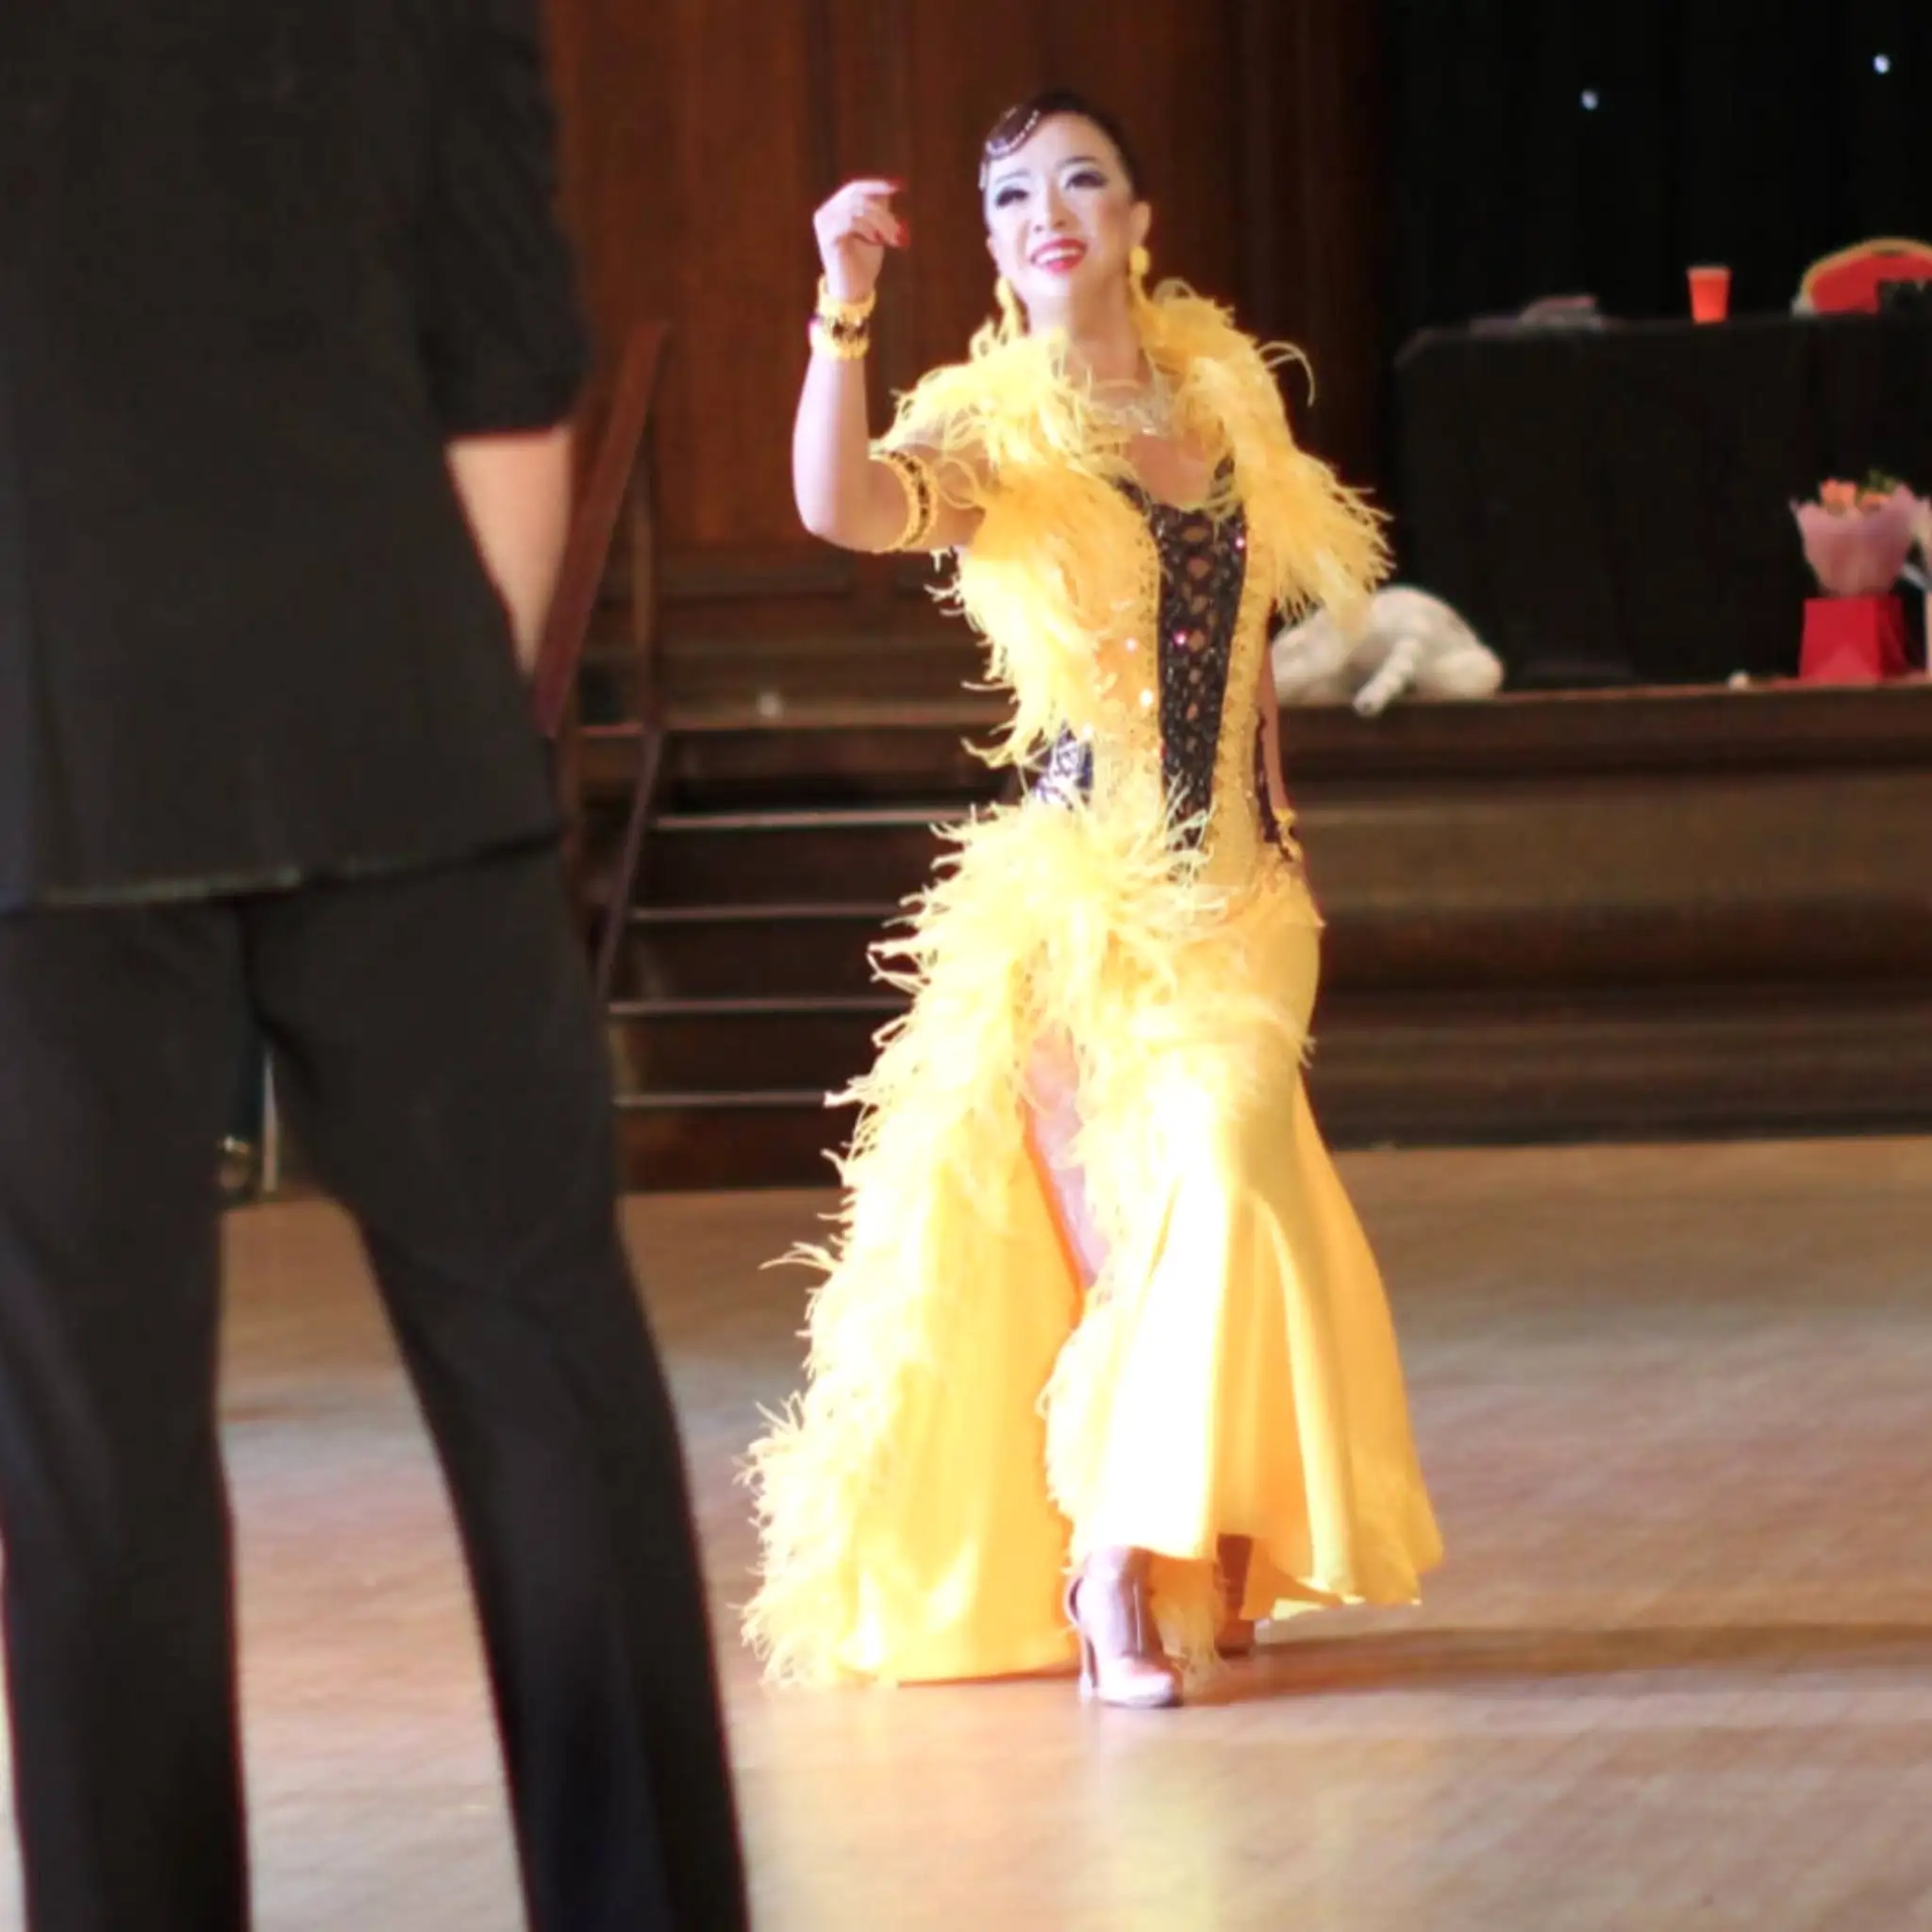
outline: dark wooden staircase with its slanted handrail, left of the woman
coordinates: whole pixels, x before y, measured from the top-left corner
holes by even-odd
[[[835,636],[755,597],[723,636],[699,634],[703,601],[667,614],[649,460],[663,342],[659,325],[636,330],[585,400],[537,717],[556,740],[628,1180],[827,1182],[850,1126],[827,1095],[900,1005],[867,949],[929,873],[933,827],[993,796],[962,738],[997,713],[960,696],[978,653],[935,616],[914,560],[893,566],[914,595],[875,599]]]

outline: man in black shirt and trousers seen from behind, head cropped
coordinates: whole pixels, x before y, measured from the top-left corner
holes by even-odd
[[[0,8],[0,1526],[37,1932],[247,1922],[211,1159],[243,1009],[450,1480],[533,1924],[744,1924],[516,668],[580,369],[533,0]]]

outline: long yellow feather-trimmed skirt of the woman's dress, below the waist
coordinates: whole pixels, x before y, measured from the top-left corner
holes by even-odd
[[[1221,1536],[1252,1538],[1250,1617],[1416,1598],[1439,1540],[1395,1335],[1302,1082],[1320,918],[1273,848],[1244,869],[1014,806],[918,908],[808,1256],[808,1385],[748,1463],[775,1677],[1068,1665],[1065,1578],[1105,1546],[1153,1553],[1190,1665]],[[1078,1066],[1092,1285],[1028,1132],[1043,1037]]]

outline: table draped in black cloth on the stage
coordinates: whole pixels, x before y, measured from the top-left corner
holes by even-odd
[[[1932,493],[1924,315],[1432,330],[1397,384],[1403,576],[1515,686],[1789,676],[1791,502],[1870,469]]]

